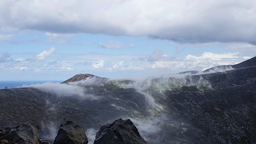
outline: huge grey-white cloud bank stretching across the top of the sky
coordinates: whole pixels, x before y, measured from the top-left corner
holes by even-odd
[[[255,8],[255,0],[7,0],[0,4],[0,29],[256,45]]]

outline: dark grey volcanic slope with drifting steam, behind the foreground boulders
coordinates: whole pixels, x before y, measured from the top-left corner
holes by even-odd
[[[0,128],[29,122],[42,138],[54,139],[58,126],[72,120],[94,131],[93,142],[100,126],[130,118],[152,144],[256,143],[256,57],[202,74],[88,75],[68,84],[3,89],[0,100]]]

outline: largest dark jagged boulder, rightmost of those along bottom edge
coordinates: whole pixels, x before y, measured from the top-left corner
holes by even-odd
[[[146,144],[130,119],[105,124],[96,133],[94,144]]]

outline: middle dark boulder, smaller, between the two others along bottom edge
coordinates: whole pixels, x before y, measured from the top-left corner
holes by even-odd
[[[54,144],[87,144],[88,139],[83,126],[74,125],[72,121],[60,125]]]

